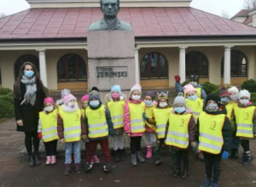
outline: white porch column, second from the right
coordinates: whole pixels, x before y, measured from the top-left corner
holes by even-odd
[[[188,47],[179,47],[178,75],[180,76],[181,83],[186,80],[186,48]]]

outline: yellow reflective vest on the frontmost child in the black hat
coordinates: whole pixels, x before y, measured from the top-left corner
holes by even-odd
[[[199,146],[198,149],[218,155],[223,147],[224,139],[222,129],[225,115],[210,115],[205,111],[199,116]]]

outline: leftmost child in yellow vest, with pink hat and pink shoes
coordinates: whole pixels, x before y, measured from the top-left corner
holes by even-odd
[[[46,161],[45,165],[56,163],[56,150],[58,142],[57,110],[54,99],[44,99],[44,111],[39,112],[38,139],[43,139]]]

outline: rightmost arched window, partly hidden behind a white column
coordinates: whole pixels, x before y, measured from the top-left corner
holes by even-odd
[[[221,76],[224,76],[224,58],[221,60]],[[247,77],[247,58],[240,51],[231,51],[231,77]]]

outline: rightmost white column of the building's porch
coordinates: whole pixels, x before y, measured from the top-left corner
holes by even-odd
[[[224,47],[224,84],[230,84],[231,46]]]

